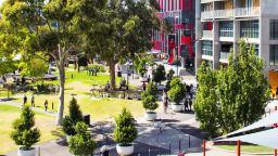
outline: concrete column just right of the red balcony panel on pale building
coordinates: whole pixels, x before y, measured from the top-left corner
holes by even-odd
[[[219,22],[213,22],[213,68],[218,69],[220,67],[220,41],[219,41]]]

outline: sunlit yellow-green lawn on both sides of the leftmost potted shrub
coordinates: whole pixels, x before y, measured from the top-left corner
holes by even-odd
[[[0,155],[16,150],[16,145],[10,138],[12,121],[20,117],[21,108],[0,104]],[[61,131],[56,129],[55,118],[36,113],[36,126],[41,132],[40,143],[58,139]]]

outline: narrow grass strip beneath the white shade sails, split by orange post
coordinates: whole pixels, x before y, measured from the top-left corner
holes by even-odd
[[[236,145],[215,145],[215,147],[228,150],[228,151],[237,151]],[[248,152],[248,153],[274,153],[273,148],[265,147],[265,146],[258,146],[258,145],[241,145],[241,152]]]

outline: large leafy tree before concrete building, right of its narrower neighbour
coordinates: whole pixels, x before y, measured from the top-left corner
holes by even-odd
[[[264,67],[254,47],[248,48],[244,41],[240,42],[238,55],[229,57],[229,67],[218,78],[224,133],[253,123],[265,114],[269,90]]]

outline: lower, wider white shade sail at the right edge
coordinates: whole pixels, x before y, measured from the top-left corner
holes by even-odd
[[[235,136],[229,139],[223,139],[219,141],[238,141],[252,143],[256,145],[267,146],[277,150],[278,148],[278,129],[270,129],[252,134],[245,134],[241,136]]]

